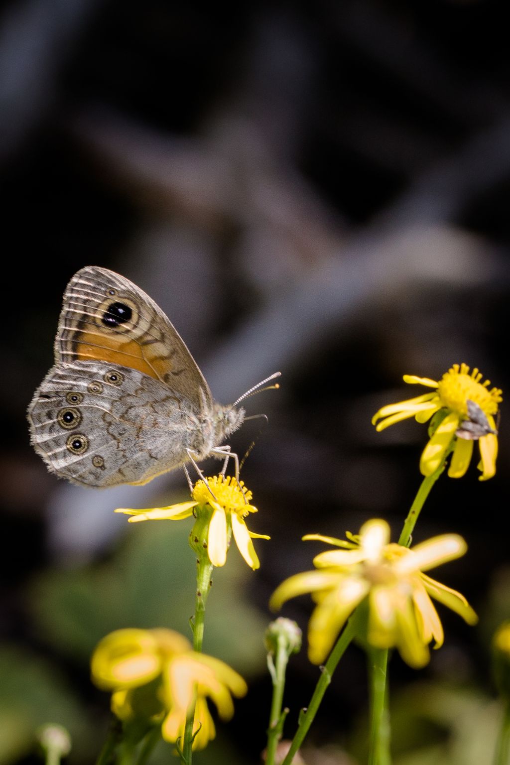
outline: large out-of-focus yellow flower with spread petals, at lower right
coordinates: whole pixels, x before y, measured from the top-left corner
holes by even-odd
[[[339,631],[352,611],[368,598],[369,623],[366,638],[377,648],[396,646],[402,658],[414,667],[429,658],[428,643],[443,644],[443,627],[430,596],[460,614],[469,624],[477,617],[466,598],[424,574],[466,552],[466,542],[455,534],[444,534],[421,542],[412,549],[390,544],[390,529],[384,520],[366,522],[359,536],[349,541],[320,534],[318,539],[342,550],[328,550],[313,558],[315,571],[304,571],[285,580],[271,597],[279,609],[285,601],[306,592],[317,606],[308,624],[308,656],[314,664],[326,659]]]

